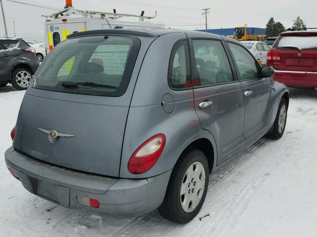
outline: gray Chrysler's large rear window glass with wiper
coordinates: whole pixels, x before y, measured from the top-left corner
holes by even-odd
[[[121,96],[140,48],[124,36],[89,36],[54,47],[34,77],[32,87],[66,93]]]

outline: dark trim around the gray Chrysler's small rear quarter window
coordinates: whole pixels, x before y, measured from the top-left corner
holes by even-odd
[[[170,84],[170,72],[171,70],[173,69],[173,62],[174,62],[174,57],[175,57],[175,53],[176,51],[178,50],[178,48],[176,49],[176,47],[178,46],[179,43],[183,42],[183,41],[186,41],[187,42],[187,51],[188,51],[188,55],[189,55],[189,79],[190,79],[190,86],[189,87],[186,87],[186,88],[174,88],[171,84]],[[190,46],[189,46],[189,43],[188,43],[188,39],[187,38],[184,38],[184,39],[181,39],[181,40],[177,40],[173,47],[172,47],[172,50],[170,52],[170,55],[169,55],[169,60],[168,60],[168,70],[167,70],[167,83],[168,83],[168,86],[170,89],[174,90],[174,91],[182,91],[182,90],[191,90],[193,87],[192,87],[192,67],[191,67],[191,53],[190,53]]]

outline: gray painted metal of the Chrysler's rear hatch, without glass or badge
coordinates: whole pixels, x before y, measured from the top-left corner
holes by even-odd
[[[139,51],[129,86],[120,97],[70,94],[30,86],[19,112],[14,147],[52,164],[118,177],[124,129],[138,69],[155,38],[139,39],[144,47]],[[61,137],[52,144],[49,135],[38,128],[74,137]]]

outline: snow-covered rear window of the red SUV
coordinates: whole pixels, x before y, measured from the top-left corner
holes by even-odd
[[[286,50],[317,50],[317,36],[284,36],[281,37],[276,48]]]

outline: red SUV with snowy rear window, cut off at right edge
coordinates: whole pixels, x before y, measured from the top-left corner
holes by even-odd
[[[267,53],[274,79],[287,86],[317,89],[317,31],[281,33]]]

